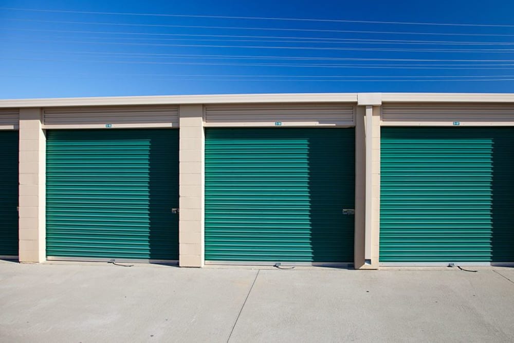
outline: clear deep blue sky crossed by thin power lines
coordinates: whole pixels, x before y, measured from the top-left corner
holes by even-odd
[[[2,99],[514,89],[508,1],[3,0],[0,7]]]

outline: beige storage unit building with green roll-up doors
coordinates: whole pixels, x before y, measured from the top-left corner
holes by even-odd
[[[0,256],[513,264],[514,94],[0,100]]]

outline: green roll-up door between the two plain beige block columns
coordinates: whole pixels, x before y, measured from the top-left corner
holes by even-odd
[[[47,255],[178,259],[178,130],[47,132]]]

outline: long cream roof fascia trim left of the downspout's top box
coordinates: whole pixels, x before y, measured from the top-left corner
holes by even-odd
[[[225,94],[0,100],[0,107],[56,107],[277,102],[357,102],[357,93]]]

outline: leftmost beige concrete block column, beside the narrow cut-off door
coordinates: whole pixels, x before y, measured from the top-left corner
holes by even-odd
[[[46,137],[41,109],[20,109],[20,262],[46,260]]]

